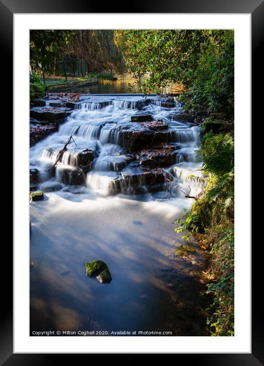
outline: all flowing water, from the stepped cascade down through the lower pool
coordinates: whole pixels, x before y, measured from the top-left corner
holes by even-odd
[[[31,168],[40,171],[38,189],[45,192],[43,201],[30,203],[31,332],[208,335],[208,301],[200,293],[206,257],[194,239],[186,245],[174,232],[193,199],[173,187],[151,190],[144,168],[126,151],[122,129],[139,112],[140,99],[86,96],[57,132],[30,150]],[[201,175],[194,157],[200,127],[171,121],[179,110],[179,104],[161,107],[156,97],[143,108],[169,125],[168,142],[177,146],[167,174],[196,195],[201,185],[186,176]],[[51,176],[46,170],[70,135],[74,141]],[[78,170],[84,149],[95,155],[89,172]],[[85,276],[85,263],[96,259],[107,263],[111,283]]]

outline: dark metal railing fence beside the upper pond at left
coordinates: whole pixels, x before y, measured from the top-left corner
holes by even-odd
[[[41,80],[45,84],[65,82],[71,79],[81,78],[88,74],[88,62],[86,59],[65,58],[62,61],[55,61],[49,70],[42,69]]]

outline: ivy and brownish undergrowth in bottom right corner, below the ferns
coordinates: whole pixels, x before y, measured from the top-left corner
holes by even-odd
[[[209,271],[214,281],[207,284],[206,293],[213,294],[213,303],[206,309],[211,336],[234,335],[234,229],[217,227],[211,253],[213,259]],[[209,239],[209,238],[208,238]]]

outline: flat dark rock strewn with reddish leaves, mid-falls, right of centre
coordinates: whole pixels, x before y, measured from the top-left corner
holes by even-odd
[[[175,146],[161,144],[143,149],[136,157],[140,165],[147,167],[166,167],[175,164],[177,151]]]

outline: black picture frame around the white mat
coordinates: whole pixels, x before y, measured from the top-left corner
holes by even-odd
[[[5,70],[2,75],[3,94],[5,95],[5,108],[9,111],[9,124],[6,125],[6,136],[12,134],[12,75],[13,75],[13,14],[14,13],[99,13],[100,5],[95,3],[83,2],[81,0],[46,0],[37,2],[34,0],[0,0],[0,47],[2,48],[2,60],[5,60]],[[105,3],[103,5],[104,13],[120,13],[120,11],[113,11],[115,7],[113,3]],[[120,8],[119,8],[120,9]],[[129,10],[133,9],[133,13],[250,13],[252,17],[252,121],[257,120],[257,113],[259,113],[262,105],[262,94],[257,93],[257,86],[261,85],[263,80],[262,58],[260,57],[262,51],[263,39],[263,15],[264,2],[262,0],[185,0],[183,2],[163,0],[163,2],[155,2],[146,0],[144,3],[130,4]],[[125,13],[124,8],[120,9]],[[7,97],[8,96],[8,97]],[[252,146],[257,145],[256,131],[252,130]],[[259,133],[259,132],[258,132]],[[259,136],[258,136],[259,137]],[[259,142],[259,140],[258,140]],[[10,150],[10,146],[9,146]],[[253,153],[253,152],[252,152]],[[9,155],[10,157],[10,155]],[[252,171],[256,171],[257,156],[252,154]],[[247,171],[247,167],[245,167]],[[257,169],[259,170],[259,169]],[[9,175],[10,179],[10,175]],[[11,181],[9,181],[9,187]],[[254,195],[252,192],[252,202]],[[11,202],[8,202],[11,207]],[[254,212],[252,210],[252,212]],[[260,216],[260,215],[259,215]],[[12,222],[11,215],[9,221]],[[254,217],[254,224],[256,227],[261,227],[260,217]],[[247,223],[251,224],[251,223]],[[258,225],[259,224],[259,225]],[[5,244],[4,244],[5,243]],[[260,269],[262,257],[259,256],[259,246],[261,246],[261,239],[254,242],[252,240],[252,353],[234,353],[234,354],[176,354],[175,361],[179,361],[179,357],[184,357],[185,362],[195,362],[195,364],[203,365],[252,365],[257,366],[264,364],[263,345],[264,345],[264,329],[262,321],[262,306],[259,302],[258,296],[261,292]],[[239,243],[238,243],[239,245]],[[10,365],[44,365],[58,363],[61,361],[62,354],[13,354],[13,280],[12,271],[10,268],[11,258],[13,257],[12,245],[9,242],[3,242],[3,249],[5,253],[4,258],[8,258],[8,272],[5,270],[2,274],[2,306],[4,311],[1,312],[1,335],[2,342],[0,346],[0,362],[6,366]],[[8,276],[7,276],[8,273]],[[262,282],[262,281],[261,281]],[[186,338],[188,341],[188,338]],[[210,352],[210,350],[208,350]],[[67,360],[73,360],[76,357],[72,354],[67,354]],[[187,359],[186,359],[187,357]],[[52,361],[52,359],[53,361]],[[76,360],[76,359],[75,359]]]

